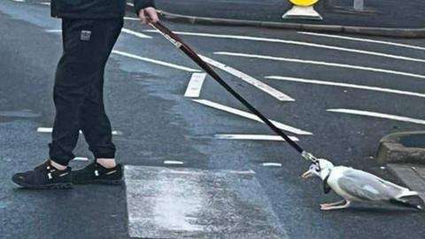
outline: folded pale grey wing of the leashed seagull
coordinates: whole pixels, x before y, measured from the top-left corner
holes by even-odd
[[[337,184],[347,194],[365,201],[388,201],[408,190],[374,174],[352,168],[344,171]]]

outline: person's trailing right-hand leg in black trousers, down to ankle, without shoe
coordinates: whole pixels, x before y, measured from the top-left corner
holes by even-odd
[[[121,19],[95,21],[93,41],[101,46],[98,54],[100,68],[81,111],[81,130],[89,143],[89,150],[97,158],[97,163],[107,168],[115,167],[116,162],[111,122],[104,111],[104,67],[120,35],[122,24]]]

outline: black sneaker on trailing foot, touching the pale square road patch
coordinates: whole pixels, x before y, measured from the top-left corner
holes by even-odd
[[[113,168],[105,168],[97,162],[93,162],[81,170],[73,171],[73,184],[121,185],[122,183],[122,166],[120,164]]]

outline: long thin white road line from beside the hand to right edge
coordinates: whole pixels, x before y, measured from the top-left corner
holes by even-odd
[[[156,30],[146,30],[146,32],[156,33]],[[382,57],[382,58],[394,58],[394,59],[401,59],[401,60],[408,60],[408,61],[425,62],[425,59],[421,59],[421,58],[409,58],[409,57],[387,54],[387,53],[377,52],[377,51],[358,50],[358,49],[337,47],[332,45],[325,45],[325,44],[318,44],[318,43],[311,43],[311,42],[300,42],[300,41],[282,40],[282,39],[276,39],[276,38],[264,38],[264,37],[256,37],[256,36],[245,36],[245,35],[215,35],[215,34],[190,33],[190,32],[176,32],[176,33],[179,35],[194,35],[194,36],[247,40],[247,41],[256,41],[256,42],[276,42],[276,43],[283,43],[283,44],[290,44],[290,45],[320,48],[320,49],[326,49],[326,50],[339,50],[339,51],[352,52],[352,53],[358,53],[358,54],[364,54],[364,55],[370,55],[370,56],[376,56],[376,57]]]

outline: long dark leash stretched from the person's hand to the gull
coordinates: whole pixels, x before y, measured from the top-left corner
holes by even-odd
[[[303,158],[305,158],[309,161],[312,161],[315,164],[318,164],[317,158],[314,157],[312,153],[309,153],[309,152],[303,150],[303,148],[301,148],[297,143],[295,143],[293,140],[291,140],[288,135],[283,133],[283,131],[280,128],[275,127],[274,124],[270,120],[268,120],[261,112],[259,112],[254,106],[252,106],[248,101],[246,101],[243,98],[243,96],[239,95],[239,93],[237,93],[235,91],[235,89],[232,89],[228,85],[228,83],[226,83],[226,81],[223,81],[223,79],[221,79],[220,75],[215,73],[213,68],[211,66],[209,66],[208,64],[206,64],[205,61],[202,58],[199,58],[199,56],[197,56],[197,53],[194,50],[192,50],[185,42],[183,42],[182,39],[178,35],[175,35],[170,29],[165,27],[162,23],[153,22],[153,21],[151,21],[151,19],[148,19],[148,20],[149,20],[149,24],[151,25],[151,27],[157,29],[158,32],[161,33],[162,35],[164,35],[164,37],[169,42],[172,42],[175,47],[182,50],[189,58],[191,58],[193,61],[195,61],[198,66],[200,66],[202,69],[204,69],[206,73],[211,75],[215,81],[219,82],[220,85],[224,89],[228,90],[228,92],[232,96],[235,96],[237,100],[239,100],[246,108],[248,108],[248,110],[250,110],[250,112],[252,112],[256,116],[258,116],[260,120],[262,120],[268,127],[270,127],[274,131],[274,133],[282,136],[282,138],[287,143],[290,143],[290,146],[292,146],[292,148],[297,150],[298,153],[300,153]]]

